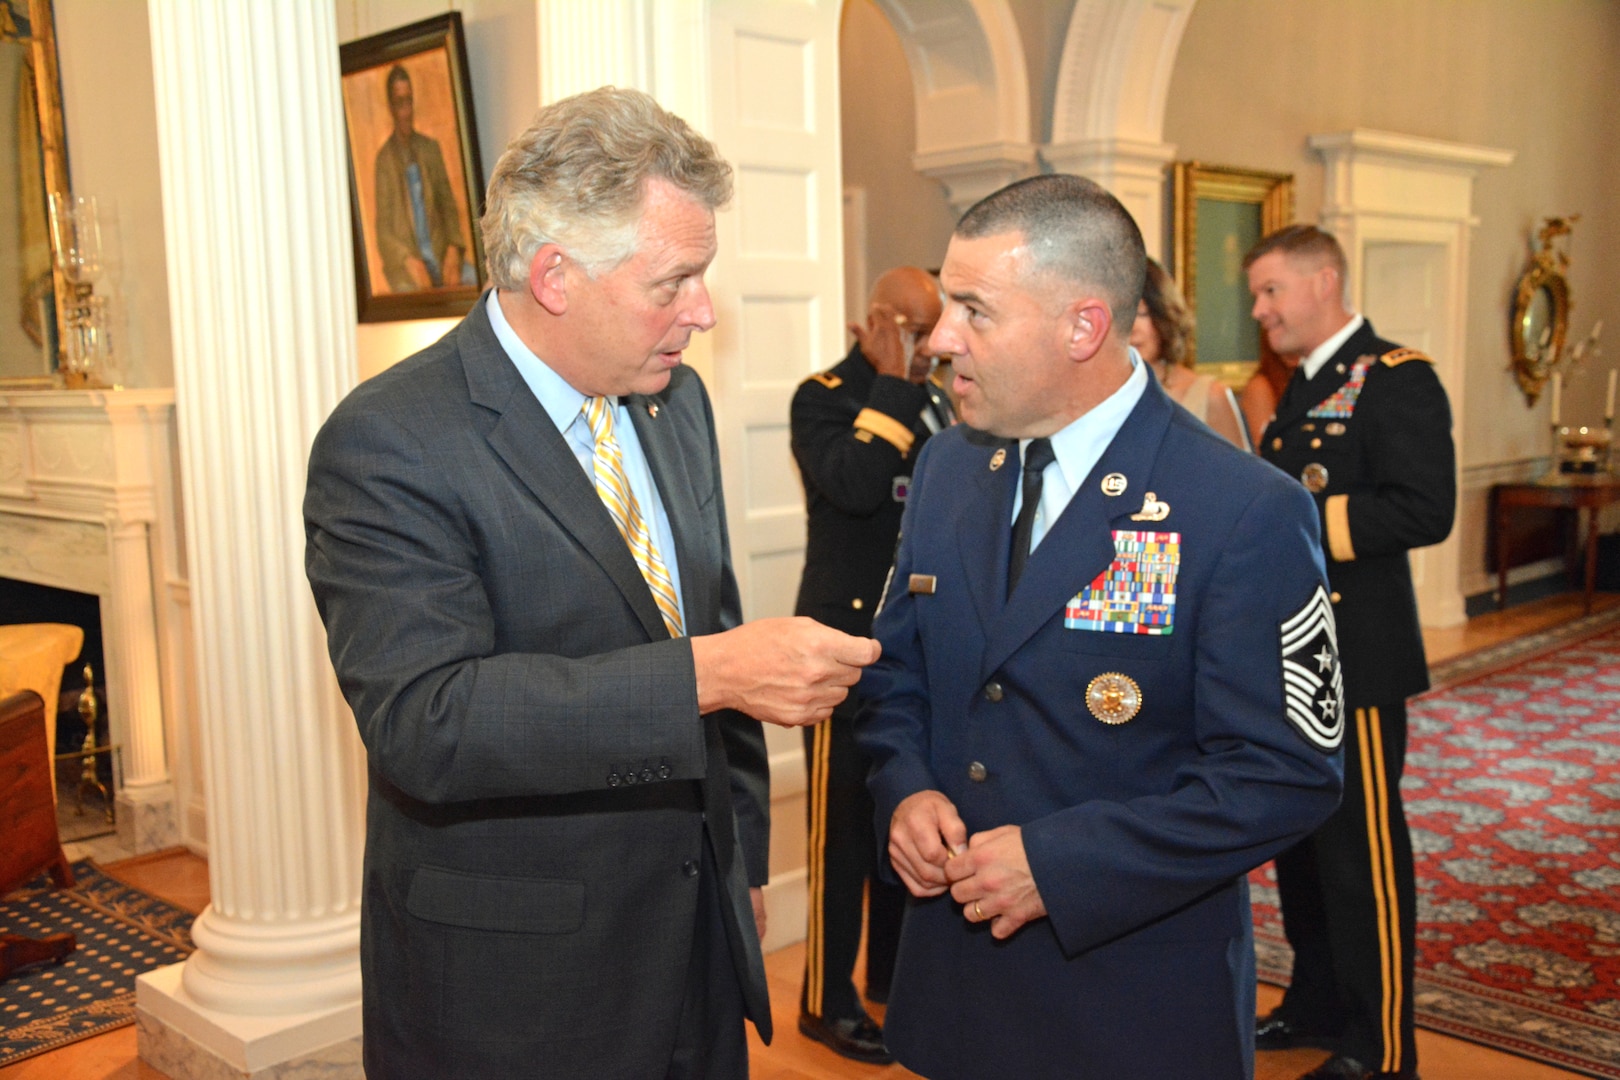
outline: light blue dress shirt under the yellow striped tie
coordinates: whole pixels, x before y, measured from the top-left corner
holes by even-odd
[[[591,439],[591,426],[585,423],[583,410],[586,395],[570,387],[562,376],[552,371],[546,361],[523,343],[517,330],[512,329],[512,324],[505,321],[505,313],[501,311],[496,290],[489,290],[486,308],[489,311],[489,325],[494,329],[501,348],[512,358],[517,372],[523,376],[523,382],[539,398],[541,408],[551,416],[551,423],[557,426],[557,431],[562,432],[562,437],[573,450],[573,458],[585,470],[585,478],[595,487],[596,468],[591,465],[591,458],[595,457],[596,442]],[[635,434],[635,424],[630,423],[630,408],[624,400],[614,405],[612,434],[619,440],[619,450],[624,457],[624,474],[630,481],[630,492],[635,495],[637,505],[642,507],[642,520],[653,531],[653,542],[658,544],[658,554],[669,570],[669,583],[676,589],[676,601],[680,604],[680,625],[684,627],[687,623],[687,606],[680,597],[680,559],[676,552],[676,536],[669,531],[669,515],[664,513],[664,500],[658,494],[658,484],[653,483],[653,471],[646,466],[646,455],[642,452],[642,439]]]

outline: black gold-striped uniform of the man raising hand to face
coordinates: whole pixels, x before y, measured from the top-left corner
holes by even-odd
[[[923,418],[927,413],[927,419]],[[867,635],[883,594],[910,463],[933,429],[951,423],[935,385],[878,376],[860,347],[794,393],[792,447],[805,484],[808,539],[795,614]],[[808,769],[808,926],[800,1007],[810,1015],[865,1015],[850,973],[867,910],[867,988],[886,999],[906,891],[878,878],[867,758],[855,745],[854,695],[804,732]]]

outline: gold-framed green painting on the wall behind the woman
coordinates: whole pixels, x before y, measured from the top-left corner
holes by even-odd
[[[1197,321],[1187,353],[1200,371],[1243,385],[1267,350],[1249,316],[1243,256],[1294,219],[1294,178],[1254,168],[1176,162],[1174,275]]]

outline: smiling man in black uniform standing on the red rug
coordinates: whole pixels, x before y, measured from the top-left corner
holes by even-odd
[[[1345,800],[1277,858],[1293,984],[1256,1046],[1324,1046],[1311,1080],[1418,1075],[1411,837],[1400,780],[1406,698],[1429,687],[1406,552],[1456,508],[1452,410],[1434,363],[1385,342],[1345,303],[1338,241],[1291,225],[1246,256],[1254,317],[1304,359],[1260,437],[1322,515],[1345,669]]]

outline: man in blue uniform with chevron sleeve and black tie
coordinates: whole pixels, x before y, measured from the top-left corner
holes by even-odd
[[[1144,277],[1063,175],[941,270],[964,423],[912,471],[859,727],[914,894],[886,1041],[933,1080],[1251,1077],[1244,874],[1338,801],[1315,507],[1149,377]]]

